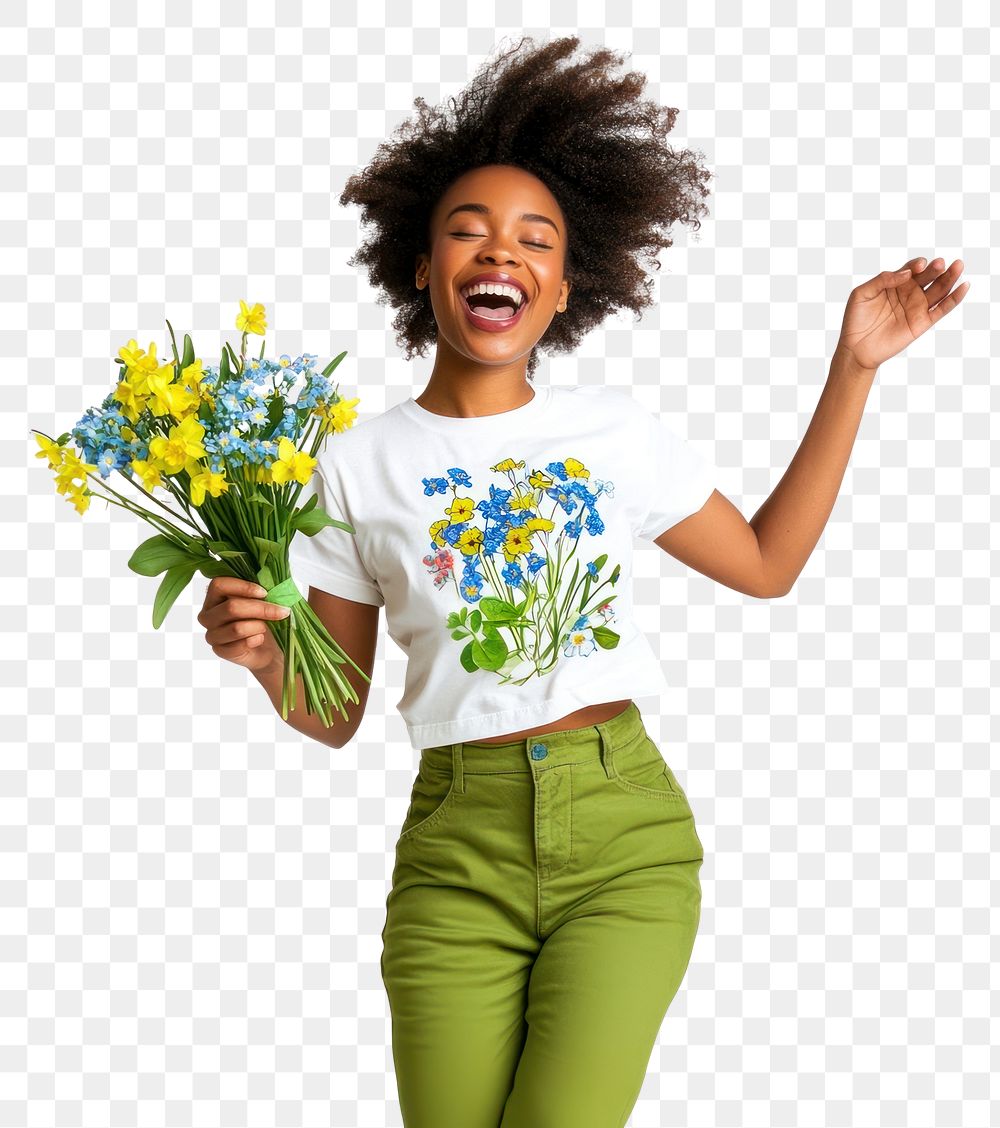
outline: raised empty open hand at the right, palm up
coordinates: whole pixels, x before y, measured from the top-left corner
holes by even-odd
[[[924,266],[911,258],[902,271],[883,271],[851,291],[838,351],[859,368],[876,369],[936,325],[968,293],[968,282],[952,288],[963,270],[956,258],[945,270],[944,258]]]

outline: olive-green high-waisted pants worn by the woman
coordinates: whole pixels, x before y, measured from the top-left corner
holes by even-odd
[[[382,929],[406,1128],[622,1128],[691,958],[702,858],[634,702],[423,749]]]

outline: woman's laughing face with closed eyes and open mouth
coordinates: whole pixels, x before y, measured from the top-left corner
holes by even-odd
[[[416,275],[421,289],[431,288],[439,359],[444,353],[455,362],[526,367],[532,347],[566,309],[570,290],[563,275],[566,220],[556,197],[522,168],[475,168],[437,201],[430,240],[430,253],[417,256]],[[524,291],[520,306],[480,294],[470,309],[462,291],[478,274],[494,272]],[[496,317],[512,311],[513,317]]]

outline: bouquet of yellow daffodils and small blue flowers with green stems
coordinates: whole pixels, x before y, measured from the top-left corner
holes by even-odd
[[[307,712],[319,713],[329,726],[334,708],[346,720],[344,702],[359,700],[340,670],[344,662],[369,678],[295,587],[289,541],[297,532],[311,537],[327,526],[354,535],[351,525],[324,512],[315,495],[301,509],[295,503],[321,446],[330,432],[354,423],[359,400],[343,399],[339,385],[334,388],[329,380],[346,353],[321,373],[313,372],[316,356],[309,353],[265,360],[263,341],[260,355],[247,360],[247,335],[263,337],[267,327],[259,302],[250,308],[240,301],[236,327],[242,331],[239,355],[227,342],[218,367],[195,359],[187,334],[178,354],[169,321],[172,361],[158,360],[156,342],[144,352],[130,341],[115,358],[117,385],[99,408],[88,408],[57,439],[33,429],[42,448],[36,457],[48,459],[57,492],[78,513],[91,497],[103,497],[158,530],[129,561],[140,575],[163,573],[153,601],[154,627],[195,572],[259,583],[268,601],[290,607],[291,615],[267,624],[284,655],[282,717],[294,708],[301,673]],[[293,398],[303,373],[304,386]],[[108,484],[113,472],[151,504],[114,490]],[[87,485],[88,478],[101,492]]]

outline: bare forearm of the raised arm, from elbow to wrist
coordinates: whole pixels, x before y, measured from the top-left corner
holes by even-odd
[[[750,520],[769,593],[795,583],[823,534],[843,482],[877,369],[861,369],[838,350],[826,385],[791,464]]]

